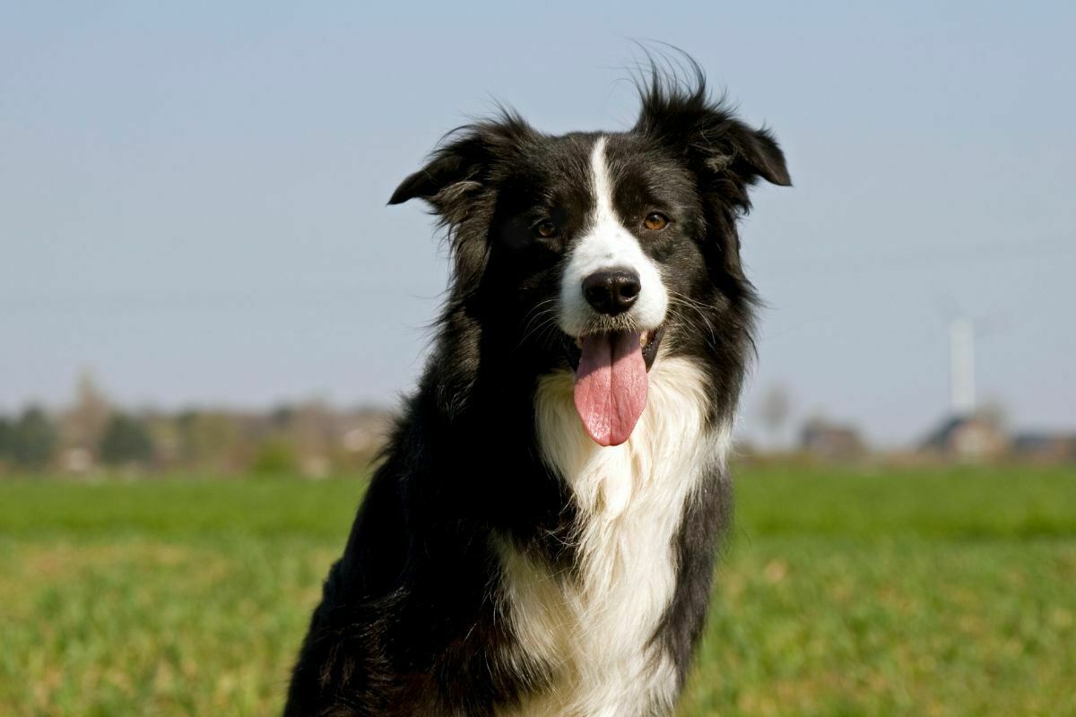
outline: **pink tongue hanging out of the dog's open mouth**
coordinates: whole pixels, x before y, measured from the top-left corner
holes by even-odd
[[[647,364],[639,334],[618,331],[583,339],[576,371],[576,410],[600,446],[619,446],[647,405]]]

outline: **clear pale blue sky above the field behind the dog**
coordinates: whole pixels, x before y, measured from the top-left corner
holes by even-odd
[[[797,417],[916,439],[954,312],[982,319],[980,395],[1076,427],[1076,3],[693,5],[0,3],[0,410],[84,369],[132,405],[394,401],[445,281],[396,183],[494,99],[631,126],[655,39],[795,182],[742,227],[768,302],[746,430],[783,384]]]

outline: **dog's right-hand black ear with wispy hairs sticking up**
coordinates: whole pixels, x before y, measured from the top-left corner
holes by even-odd
[[[737,119],[706,90],[702,71],[685,87],[657,71],[640,87],[642,106],[635,131],[649,134],[683,157],[706,193],[718,193],[739,209],[750,209],[747,189],[759,178],[791,186],[784,154],[766,129]]]

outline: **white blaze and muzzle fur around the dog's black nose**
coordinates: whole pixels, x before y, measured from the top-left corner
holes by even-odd
[[[591,191],[594,209],[586,223],[586,233],[572,248],[561,278],[561,329],[578,336],[592,326],[597,313],[583,296],[583,279],[609,269],[627,269],[639,275],[642,288],[626,316],[640,330],[655,329],[665,318],[668,296],[657,266],[617,215],[605,137],[597,139],[591,152]]]

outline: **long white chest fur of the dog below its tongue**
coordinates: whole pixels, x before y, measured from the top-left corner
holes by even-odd
[[[727,428],[704,428],[705,387],[688,359],[659,358],[632,438],[603,448],[576,413],[571,375],[542,379],[538,438],[575,493],[581,565],[576,577],[554,575],[501,548],[520,657],[553,672],[550,689],[513,715],[631,717],[655,701],[671,704],[675,670],[650,639],[676,587],[674,540],[685,501],[730,443]]]

